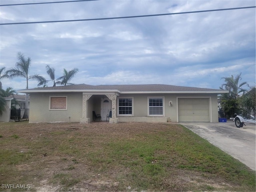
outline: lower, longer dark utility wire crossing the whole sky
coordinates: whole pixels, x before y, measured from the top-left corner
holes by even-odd
[[[152,16],[178,15],[178,14],[188,14],[188,13],[212,12],[212,11],[226,11],[226,10],[248,9],[248,8],[256,8],[256,6],[226,8],[226,9],[213,9],[213,10],[202,10],[202,11],[188,11],[188,12],[178,12],[178,13],[152,14],[152,15],[138,15],[138,16],[124,16],[124,17],[95,18],[95,19],[76,19],[76,20],[59,20],[59,21],[37,21],[37,22],[1,23],[0,25],[18,25],[18,24],[36,24],[36,23],[58,23],[58,22],[75,22],[75,21],[94,21],[94,20],[126,19],[126,18],[137,18],[137,17],[152,17]]]

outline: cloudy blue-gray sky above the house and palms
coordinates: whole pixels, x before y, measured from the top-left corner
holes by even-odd
[[[1,0],[0,4],[54,0]],[[164,14],[255,6],[255,0],[98,0],[1,6],[0,22],[37,22]],[[170,84],[218,89],[242,72],[256,82],[255,8],[143,18],[0,26],[0,67],[17,53],[30,57],[30,75],[56,78],[79,68],[74,84]],[[26,88],[25,79],[2,80]],[[37,82],[30,81],[29,88]],[[52,86],[49,83],[48,86]],[[246,88],[246,87],[244,87]]]

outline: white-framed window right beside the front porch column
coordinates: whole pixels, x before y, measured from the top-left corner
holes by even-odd
[[[118,116],[133,116],[133,98],[118,98]]]

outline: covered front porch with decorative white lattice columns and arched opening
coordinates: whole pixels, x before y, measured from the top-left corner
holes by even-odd
[[[82,118],[80,123],[90,123],[94,120],[100,120],[93,115],[99,114],[102,121],[109,120],[109,123],[118,123],[116,118],[116,97],[118,92],[84,92],[82,101]],[[107,118],[111,111],[112,117]]]

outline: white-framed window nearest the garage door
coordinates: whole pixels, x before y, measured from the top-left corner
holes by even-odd
[[[164,116],[164,98],[148,98],[148,116]]]

